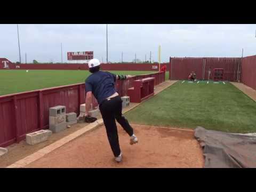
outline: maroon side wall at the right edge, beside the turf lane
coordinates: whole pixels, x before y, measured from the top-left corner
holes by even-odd
[[[241,81],[256,90],[256,55],[242,59]]]

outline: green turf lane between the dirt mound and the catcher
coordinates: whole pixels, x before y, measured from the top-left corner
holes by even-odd
[[[132,123],[256,132],[256,102],[234,85],[179,81],[127,112]]]

